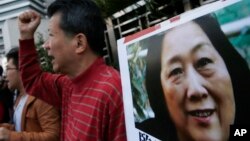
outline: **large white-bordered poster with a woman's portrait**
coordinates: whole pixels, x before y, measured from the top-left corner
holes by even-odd
[[[250,1],[205,5],[118,40],[129,141],[227,141],[250,123]]]

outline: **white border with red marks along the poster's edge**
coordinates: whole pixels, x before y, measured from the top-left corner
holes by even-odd
[[[126,47],[140,40],[143,40],[145,38],[166,31],[172,27],[178,26],[180,24],[186,23],[203,15],[215,12],[217,10],[235,4],[239,1],[240,0],[221,0],[208,5],[204,5],[194,10],[187,11],[186,13],[183,13],[179,16],[173,17],[153,27],[145,29],[139,33],[119,39],[117,41],[120,73],[122,79],[123,101],[125,107],[126,132],[128,141],[141,141],[141,139],[139,138],[139,134],[144,132],[135,128],[135,119],[133,114],[134,107],[133,107],[132,92],[131,92],[131,80],[130,80],[129,65],[128,65],[128,52]],[[149,134],[145,134],[145,137],[146,136],[147,139],[145,139],[145,141],[159,140]]]

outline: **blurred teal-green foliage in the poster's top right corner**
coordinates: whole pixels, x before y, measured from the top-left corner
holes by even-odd
[[[250,18],[250,0],[242,0],[236,4],[216,11],[215,15],[221,26]],[[247,61],[250,68],[250,23],[241,23],[242,27],[238,33],[227,35],[236,50]]]

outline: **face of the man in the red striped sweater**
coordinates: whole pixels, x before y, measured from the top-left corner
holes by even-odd
[[[76,43],[73,37],[67,36],[60,28],[61,14],[54,14],[49,21],[49,39],[44,47],[52,57],[53,70],[55,72],[68,73],[70,64],[74,63],[74,47]]]

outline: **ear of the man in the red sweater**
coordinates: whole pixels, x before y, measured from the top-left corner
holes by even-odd
[[[83,33],[79,33],[75,36],[76,38],[76,53],[82,53],[87,48],[87,38]]]

